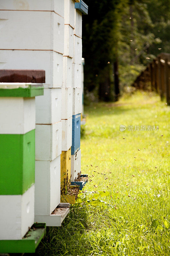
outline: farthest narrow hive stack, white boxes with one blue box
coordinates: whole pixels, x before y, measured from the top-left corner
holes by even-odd
[[[71,146],[71,181],[80,175],[81,149],[80,125],[82,112],[81,63],[82,63],[82,13],[75,9],[74,51],[72,61],[73,116]]]

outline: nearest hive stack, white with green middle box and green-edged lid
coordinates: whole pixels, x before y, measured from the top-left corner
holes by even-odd
[[[0,84],[0,240],[20,240],[34,223],[35,96],[42,94]]]

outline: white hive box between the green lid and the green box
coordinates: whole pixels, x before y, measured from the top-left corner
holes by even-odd
[[[0,134],[25,134],[35,129],[35,98],[0,98]]]

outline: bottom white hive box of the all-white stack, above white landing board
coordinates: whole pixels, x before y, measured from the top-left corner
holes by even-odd
[[[51,214],[58,204],[60,156],[53,161],[35,161],[35,215]]]

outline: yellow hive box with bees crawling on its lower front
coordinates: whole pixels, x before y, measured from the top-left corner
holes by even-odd
[[[61,153],[61,194],[65,194],[70,186],[71,178],[71,148]]]

